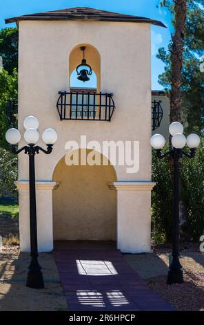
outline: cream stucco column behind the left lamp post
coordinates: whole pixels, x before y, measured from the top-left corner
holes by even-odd
[[[30,252],[29,182],[15,182],[19,190],[19,234],[21,252]],[[53,249],[52,231],[52,189],[58,183],[50,180],[36,181],[37,232],[39,252]]]

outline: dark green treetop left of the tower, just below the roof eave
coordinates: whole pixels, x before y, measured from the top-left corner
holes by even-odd
[[[18,43],[14,41],[17,34],[17,28],[0,30],[0,56],[3,59],[3,68],[10,74],[18,67]]]

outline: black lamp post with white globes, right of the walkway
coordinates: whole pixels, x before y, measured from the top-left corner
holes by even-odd
[[[183,125],[179,122],[170,124],[170,133],[172,135],[172,147],[170,151],[161,154],[161,149],[165,145],[165,139],[161,134],[155,134],[151,138],[151,145],[156,149],[159,159],[165,156],[172,157],[174,161],[174,201],[173,201],[173,234],[172,234],[172,262],[167,276],[167,284],[181,284],[183,282],[183,270],[179,261],[179,159],[183,156],[194,158],[196,147],[200,143],[200,138],[192,133],[183,135]],[[190,148],[190,154],[182,150],[185,144]]]

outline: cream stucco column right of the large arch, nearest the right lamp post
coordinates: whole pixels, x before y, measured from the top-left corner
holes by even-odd
[[[117,248],[123,253],[150,252],[151,190],[155,183],[118,181],[110,183],[117,191]]]

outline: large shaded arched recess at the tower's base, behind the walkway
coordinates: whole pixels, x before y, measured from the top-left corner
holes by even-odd
[[[54,241],[116,241],[116,191],[108,187],[116,173],[110,163],[68,166],[64,156],[53,180],[59,182],[53,192]]]

